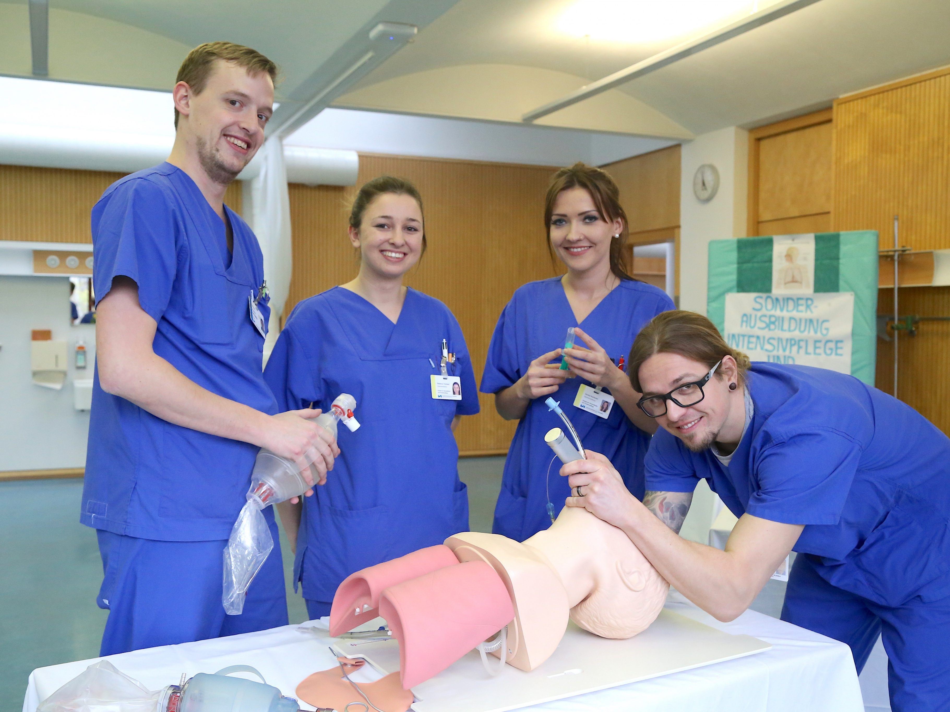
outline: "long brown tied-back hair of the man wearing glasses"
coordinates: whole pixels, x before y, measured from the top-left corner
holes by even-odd
[[[731,348],[709,319],[695,311],[683,309],[657,314],[637,334],[627,361],[630,384],[637,393],[643,392],[640,387],[640,366],[655,353],[679,354],[707,368],[712,368],[725,356],[731,356],[738,366],[736,377],[740,384],[745,383],[746,371],[750,367],[749,357]]]

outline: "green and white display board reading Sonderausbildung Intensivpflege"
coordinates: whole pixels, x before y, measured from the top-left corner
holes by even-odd
[[[874,384],[878,234],[713,240],[707,313],[752,361],[814,365]]]

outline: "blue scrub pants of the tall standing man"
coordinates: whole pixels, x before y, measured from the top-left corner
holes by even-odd
[[[167,646],[287,625],[280,537],[248,589],[244,612],[221,605],[227,540],[155,541],[97,530],[103,587],[96,603],[109,611],[100,655]]]

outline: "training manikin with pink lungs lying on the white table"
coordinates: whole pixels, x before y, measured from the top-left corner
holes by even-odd
[[[523,543],[466,532],[357,571],[336,591],[330,630],[386,618],[409,688],[505,626],[506,662],[525,671],[554,652],[568,618],[605,638],[630,638],[656,620],[668,589],[626,534],[565,507]]]

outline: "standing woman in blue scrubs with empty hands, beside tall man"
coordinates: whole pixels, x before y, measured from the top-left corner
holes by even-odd
[[[362,425],[341,428],[344,453],[304,497],[302,521],[300,505],[281,510],[312,618],[330,614],[353,571],[468,530],[453,430],[478,412],[478,394],[452,312],[403,285],[426,250],[415,187],[383,177],[360,188],[350,241],[360,254],[356,278],[296,306],[264,374],[282,406],[328,408],[350,393]]]

